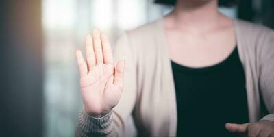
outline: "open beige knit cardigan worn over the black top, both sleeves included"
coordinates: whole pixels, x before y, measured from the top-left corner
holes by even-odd
[[[246,75],[249,120],[263,117],[264,102],[271,114],[262,119],[274,121],[274,32],[245,21],[234,23]],[[99,119],[80,112],[77,136],[176,136],[175,86],[163,20],[123,34],[114,58],[126,62],[119,104]]]

